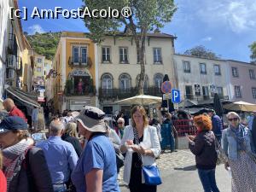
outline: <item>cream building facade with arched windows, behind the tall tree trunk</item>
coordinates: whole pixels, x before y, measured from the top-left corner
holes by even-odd
[[[160,86],[168,74],[176,87],[173,59],[174,37],[165,33],[150,33],[146,38],[145,95],[161,96]],[[137,95],[141,66],[132,37],[106,36],[97,46],[99,107],[105,113],[130,111],[131,105],[119,105],[118,100]]]

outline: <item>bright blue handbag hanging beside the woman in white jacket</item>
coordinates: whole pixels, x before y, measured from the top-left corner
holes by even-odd
[[[146,184],[159,185],[162,183],[157,166],[143,166],[143,176]]]

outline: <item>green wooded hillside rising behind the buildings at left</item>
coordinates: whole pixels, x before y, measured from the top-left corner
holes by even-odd
[[[46,59],[49,60],[53,59],[61,32],[36,32],[34,35],[27,35],[27,32],[25,32],[24,34],[29,44],[39,55],[45,55]]]

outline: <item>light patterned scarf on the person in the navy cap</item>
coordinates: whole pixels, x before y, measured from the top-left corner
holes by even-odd
[[[22,139],[19,143],[3,149],[3,172],[7,180],[7,191],[9,191],[9,183],[20,173],[26,150],[32,144],[33,140],[31,138]]]

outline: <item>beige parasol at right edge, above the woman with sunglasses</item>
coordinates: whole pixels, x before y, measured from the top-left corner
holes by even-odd
[[[247,111],[253,112],[256,111],[256,105],[249,102],[232,102],[230,104],[224,105],[225,109],[234,110],[234,111]]]

